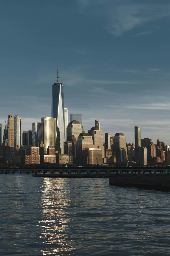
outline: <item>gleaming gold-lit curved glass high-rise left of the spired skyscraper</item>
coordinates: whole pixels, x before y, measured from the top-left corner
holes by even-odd
[[[44,154],[47,155],[48,146],[56,147],[56,119],[54,117],[42,117],[38,124],[38,139],[44,144]]]

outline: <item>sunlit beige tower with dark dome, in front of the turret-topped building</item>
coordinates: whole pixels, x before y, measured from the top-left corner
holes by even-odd
[[[105,147],[103,145],[102,131],[97,127],[92,127],[89,133],[92,136],[94,148],[100,148],[102,150],[102,158],[105,158]]]

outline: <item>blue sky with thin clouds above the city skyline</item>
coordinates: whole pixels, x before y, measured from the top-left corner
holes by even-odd
[[[170,144],[170,2],[6,0],[0,14],[0,123],[22,130],[51,116],[52,84],[86,132],[124,133]],[[105,136],[104,136],[105,137]]]

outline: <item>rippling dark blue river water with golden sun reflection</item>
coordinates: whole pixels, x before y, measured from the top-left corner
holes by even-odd
[[[0,175],[0,255],[170,255],[170,194]]]

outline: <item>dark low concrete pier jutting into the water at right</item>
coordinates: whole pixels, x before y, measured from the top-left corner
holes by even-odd
[[[113,174],[109,177],[110,185],[170,191],[169,174]]]

